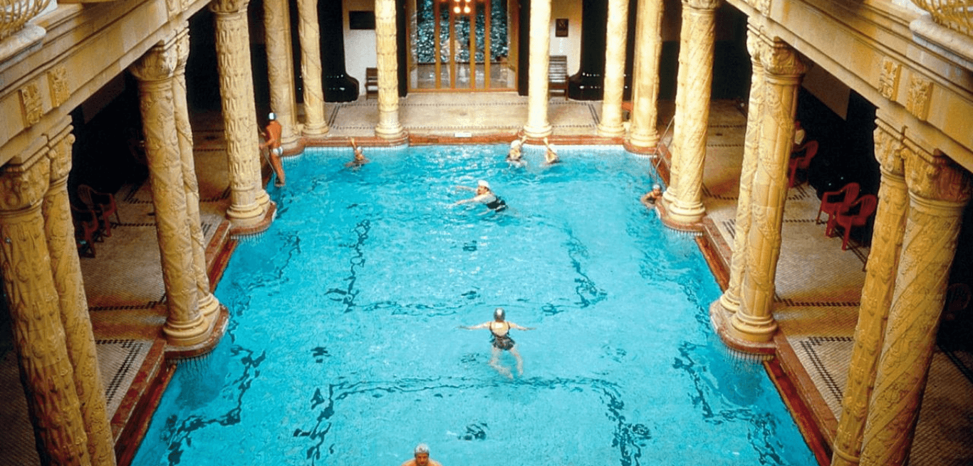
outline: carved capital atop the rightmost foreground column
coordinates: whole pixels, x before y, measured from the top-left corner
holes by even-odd
[[[905,173],[909,191],[919,197],[965,204],[970,199],[970,174],[940,151],[929,153],[905,139]]]

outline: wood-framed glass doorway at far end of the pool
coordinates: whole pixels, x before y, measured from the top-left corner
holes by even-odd
[[[516,0],[414,0],[409,90],[514,90],[509,3]]]

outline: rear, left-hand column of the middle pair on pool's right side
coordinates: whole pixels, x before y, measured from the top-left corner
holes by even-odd
[[[746,106],[746,133],[743,138],[743,163],[739,174],[737,217],[734,222],[733,255],[730,258],[730,282],[720,299],[710,307],[711,312],[725,311],[729,317],[739,310],[739,287],[746,272],[746,239],[750,233],[750,191],[753,174],[757,171],[760,148],[760,120],[764,105],[764,65],[760,62],[761,39],[753,25],[747,27],[746,49],[750,52],[750,98]]]

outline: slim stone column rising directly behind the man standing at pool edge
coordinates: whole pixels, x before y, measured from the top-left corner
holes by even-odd
[[[267,33],[267,70],[270,111],[280,122],[280,145],[293,148],[298,142],[297,103],[294,100],[294,55],[291,53],[291,20],[287,0],[264,0]]]

